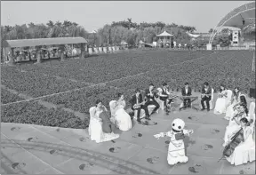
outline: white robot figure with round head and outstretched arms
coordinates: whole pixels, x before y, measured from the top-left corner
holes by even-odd
[[[156,139],[160,139],[164,136],[171,137],[167,156],[167,161],[170,165],[188,162],[188,156],[185,155],[183,139],[185,138],[185,134],[189,136],[189,134],[193,133],[194,131],[185,130],[184,127],[185,122],[180,118],[177,118],[172,122],[172,131],[160,132],[154,135]]]

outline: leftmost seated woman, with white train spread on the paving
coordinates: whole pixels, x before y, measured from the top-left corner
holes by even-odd
[[[119,138],[119,134],[113,132],[115,126],[109,121],[107,112],[108,109],[102,105],[100,99],[96,101],[96,107],[90,108],[89,134],[96,143]]]

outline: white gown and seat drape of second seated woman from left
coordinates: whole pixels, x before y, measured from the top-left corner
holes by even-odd
[[[111,101],[110,104],[111,114],[115,117],[117,128],[121,131],[129,131],[132,128],[132,120],[124,110],[125,101],[123,100],[117,107],[113,107],[116,105],[116,101]]]

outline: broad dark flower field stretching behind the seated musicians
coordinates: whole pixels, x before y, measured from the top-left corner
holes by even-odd
[[[3,66],[1,84],[5,88],[50,102],[58,108],[39,105],[37,99],[12,103],[22,99],[1,88],[2,122],[87,127],[88,117],[86,122],[81,122],[72,112],[60,108],[88,115],[96,99],[102,99],[108,107],[117,92],[124,92],[129,107],[128,100],[135,88],[144,90],[150,83],[158,86],[164,81],[173,91],[180,91],[185,82],[191,84],[194,91],[200,91],[207,81],[215,90],[223,83],[229,89],[239,86],[247,93],[250,87],[255,87],[252,57],[249,51],[148,51],[64,62],[52,60],[12,68]]]

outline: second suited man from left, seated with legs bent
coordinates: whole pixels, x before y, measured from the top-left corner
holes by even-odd
[[[151,115],[152,115],[152,114],[156,113],[156,110],[160,107],[155,99],[157,97],[157,94],[154,91],[154,84],[149,84],[149,88],[145,90],[145,96],[147,98],[147,102],[145,103],[146,107],[148,107],[149,105],[156,106],[151,113]],[[146,117],[146,119],[150,120],[149,114],[146,114],[146,115],[148,115],[148,117]]]

